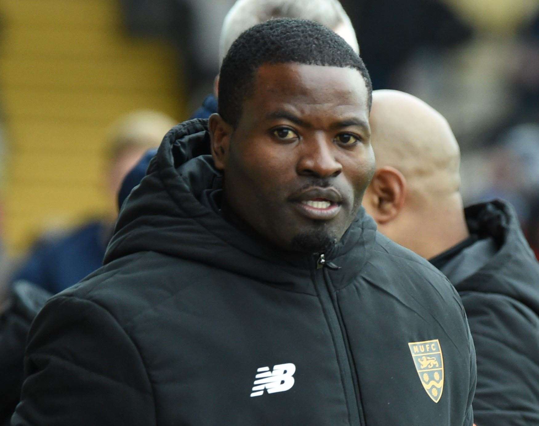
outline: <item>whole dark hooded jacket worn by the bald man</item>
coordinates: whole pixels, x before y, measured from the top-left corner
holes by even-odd
[[[468,316],[477,355],[475,423],[539,424],[539,264],[506,202],[465,214],[470,238],[431,262]]]

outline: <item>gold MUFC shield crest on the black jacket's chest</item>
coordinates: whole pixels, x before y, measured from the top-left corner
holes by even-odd
[[[408,344],[421,385],[434,402],[444,390],[444,357],[438,339],[414,341]]]

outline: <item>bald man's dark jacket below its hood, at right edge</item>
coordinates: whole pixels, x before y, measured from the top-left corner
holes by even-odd
[[[539,318],[499,294],[462,292],[475,344],[478,426],[539,424]]]

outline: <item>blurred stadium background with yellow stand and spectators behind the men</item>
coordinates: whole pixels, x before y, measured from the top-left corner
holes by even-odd
[[[123,175],[213,91],[233,3],[0,0],[2,281],[56,292],[59,275],[99,266]],[[512,202],[539,254],[539,3],[341,3],[374,88],[447,118],[466,204]],[[93,256],[86,271],[77,247]],[[51,270],[54,250],[75,275]]]

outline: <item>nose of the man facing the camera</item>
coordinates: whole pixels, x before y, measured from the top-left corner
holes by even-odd
[[[335,148],[333,140],[326,137],[303,139],[297,166],[298,174],[316,178],[338,176],[342,165],[335,158]]]

